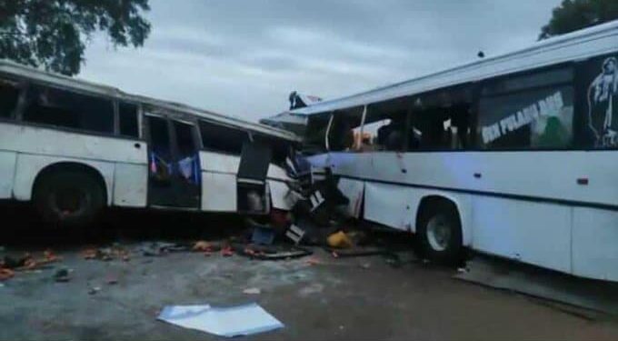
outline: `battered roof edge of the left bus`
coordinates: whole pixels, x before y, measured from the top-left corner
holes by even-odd
[[[274,128],[269,125],[261,125],[253,122],[248,122],[234,116],[217,114],[212,111],[207,111],[190,105],[164,101],[144,95],[127,94],[113,86],[101,85],[94,82],[85,81],[83,79],[46,72],[34,67],[16,64],[5,59],[0,59],[0,74],[14,75],[16,77],[32,79],[50,85],[75,89],[78,91],[81,90],[94,95],[105,95],[117,99],[139,103],[142,105],[151,105],[173,112],[175,111],[184,114],[196,115],[224,125],[232,125],[240,129],[250,130],[254,133],[271,135],[294,142],[300,141],[300,138],[293,133],[285,131],[283,129]]]

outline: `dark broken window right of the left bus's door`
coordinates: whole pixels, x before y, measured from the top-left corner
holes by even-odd
[[[240,155],[243,144],[249,141],[249,134],[242,129],[215,125],[203,120],[199,124],[205,150]]]

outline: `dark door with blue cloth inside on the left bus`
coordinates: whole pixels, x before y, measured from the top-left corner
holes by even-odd
[[[201,172],[193,123],[145,115],[148,126],[148,204],[198,209]]]

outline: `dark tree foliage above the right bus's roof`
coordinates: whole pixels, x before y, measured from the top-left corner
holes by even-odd
[[[541,28],[539,40],[618,19],[616,0],[563,0],[553,8],[549,24]]]

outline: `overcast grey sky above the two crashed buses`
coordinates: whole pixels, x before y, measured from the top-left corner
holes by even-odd
[[[140,49],[95,36],[79,77],[244,119],[529,45],[560,0],[151,0]]]

